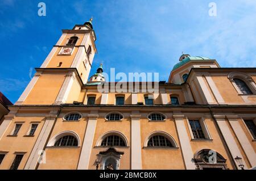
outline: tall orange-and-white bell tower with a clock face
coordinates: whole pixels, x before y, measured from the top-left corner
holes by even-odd
[[[97,53],[92,18],[62,35],[15,104],[73,103],[88,81]]]

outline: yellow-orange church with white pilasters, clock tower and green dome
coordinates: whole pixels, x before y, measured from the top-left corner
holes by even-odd
[[[182,54],[156,92],[99,92],[95,41],[92,19],[63,30],[2,121],[0,169],[256,166],[256,68]]]

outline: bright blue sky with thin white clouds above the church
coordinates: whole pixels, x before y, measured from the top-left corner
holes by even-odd
[[[46,16],[38,16],[39,2]],[[210,2],[217,16],[209,16]],[[256,66],[254,0],[1,0],[0,91],[15,103],[61,30],[91,16],[98,49],[91,74],[102,62],[106,73],[158,72],[167,81],[183,51],[222,67]]]

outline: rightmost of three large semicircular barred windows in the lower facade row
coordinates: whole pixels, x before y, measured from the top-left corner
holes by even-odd
[[[162,135],[155,135],[147,142],[148,147],[174,147],[168,138]]]

